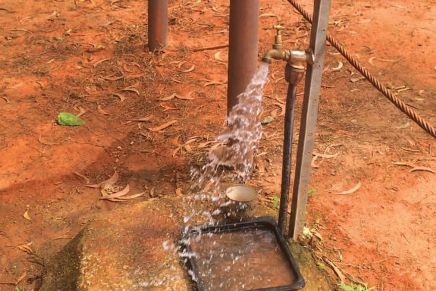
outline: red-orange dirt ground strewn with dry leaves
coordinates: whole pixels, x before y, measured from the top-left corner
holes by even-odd
[[[312,12],[311,1],[302,4]],[[329,27],[433,124],[435,4],[338,1]],[[287,27],[287,47],[308,46],[310,25],[291,5],[261,0],[260,6],[259,54],[271,47],[277,22]],[[189,169],[204,163],[205,142],[220,132],[226,114],[227,50],[193,49],[227,44],[228,1],[170,1],[169,43],[160,56],[144,49],[144,1],[4,0],[0,16],[0,289],[15,289],[3,283],[25,274],[18,286],[29,290],[43,258],[94,214],[187,193]],[[333,70],[338,62],[343,67]],[[283,64],[270,70],[263,116],[276,119],[264,129],[251,181],[265,203],[280,191],[286,90]],[[323,239],[311,246],[347,279],[377,290],[429,290],[436,285],[436,174],[393,162],[436,169],[436,142],[359,78],[327,48],[315,152],[337,156],[314,161],[307,226]],[[172,93],[182,98],[165,100]],[[84,126],[55,122],[59,112],[81,108]],[[150,118],[128,120],[140,117]],[[149,130],[172,120],[164,130]],[[99,200],[98,190],[74,174],[98,182],[114,169],[132,193],[147,195]],[[335,194],[358,183],[354,193]],[[30,242],[32,254],[17,247]]]

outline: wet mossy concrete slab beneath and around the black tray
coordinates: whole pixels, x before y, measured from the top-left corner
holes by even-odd
[[[175,247],[190,212],[181,198],[159,198],[102,214],[49,260],[40,291],[191,290]],[[271,214],[256,208],[258,216]],[[308,250],[291,250],[305,290],[332,289]]]

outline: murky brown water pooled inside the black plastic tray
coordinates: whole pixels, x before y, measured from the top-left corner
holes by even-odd
[[[208,234],[190,243],[204,290],[252,290],[295,282],[294,273],[272,232]]]

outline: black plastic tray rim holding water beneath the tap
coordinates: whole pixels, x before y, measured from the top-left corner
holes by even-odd
[[[200,231],[202,234],[204,233],[229,233],[229,232],[241,232],[241,231],[256,231],[263,230],[271,232],[274,237],[277,239],[277,243],[280,247],[283,257],[286,259],[288,263],[289,271],[292,272],[294,276],[293,283],[285,286],[274,286],[274,287],[265,287],[265,288],[256,288],[256,289],[240,289],[240,290],[229,290],[229,291],[292,291],[298,290],[304,287],[306,284],[304,282],[303,277],[298,269],[297,264],[295,263],[294,258],[289,252],[289,248],[287,246],[287,242],[285,238],[280,234],[279,228],[277,226],[276,220],[271,216],[258,217],[258,218],[250,218],[240,222],[219,222],[216,224],[204,224],[204,225],[191,225],[186,226],[183,231],[183,239],[182,239],[182,248],[188,252],[192,253],[191,245],[189,244],[189,238],[197,235]],[[207,291],[205,289],[204,280],[199,274],[198,264],[195,256],[189,256],[187,258],[187,263],[190,265],[190,269],[193,272],[193,275],[196,277],[196,280],[193,281],[194,285],[198,291]],[[268,262],[265,262],[267,265]],[[244,278],[241,278],[244,280]],[[247,278],[249,280],[249,278]]]

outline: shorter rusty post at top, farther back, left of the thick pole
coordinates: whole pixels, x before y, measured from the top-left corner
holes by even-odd
[[[148,48],[150,51],[166,46],[168,32],[168,0],[148,0]]]

